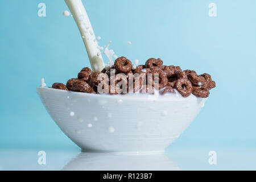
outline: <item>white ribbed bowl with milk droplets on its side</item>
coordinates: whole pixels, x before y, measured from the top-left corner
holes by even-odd
[[[98,95],[38,88],[52,119],[83,151],[161,151],[207,99],[146,94]]]

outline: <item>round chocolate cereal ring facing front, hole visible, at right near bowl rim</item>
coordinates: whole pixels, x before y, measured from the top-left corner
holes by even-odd
[[[175,83],[175,88],[183,97],[190,96],[193,90],[191,82],[185,78],[177,80]]]

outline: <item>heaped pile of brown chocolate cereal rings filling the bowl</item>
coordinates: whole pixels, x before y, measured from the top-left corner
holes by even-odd
[[[204,73],[203,75],[197,75],[195,71],[185,70],[182,71],[180,67],[175,67],[173,65],[166,66],[163,65],[161,59],[148,59],[144,65],[134,66],[129,59],[126,57],[119,57],[115,60],[112,67],[104,68],[101,72],[92,72],[90,68],[83,68],[79,72],[77,78],[71,78],[68,80],[67,84],[55,83],[52,85],[53,89],[70,90],[73,92],[84,92],[84,93],[94,93],[98,94],[98,85],[104,79],[98,79],[98,76],[105,73],[110,78],[110,73],[114,72],[114,86],[110,86],[110,81],[108,82],[109,94],[125,94],[125,93],[137,93],[141,90],[146,90],[146,93],[154,94],[154,75],[158,75],[158,90],[160,94],[175,93],[181,94],[183,97],[188,97],[191,94],[196,97],[207,98],[209,96],[209,90],[215,88],[216,84],[212,81],[209,74]],[[117,78],[115,75],[122,73],[126,77]],[[148,75],[150,73],[151,85],[149,86],[148,80],[139,80],[139,86],[134,86],[134,82],[130,82],[130,77],[136,77],[140,74]],[[146,76],[147,77],[147,76]],[[127,87],[119,88],[119,82],[127,81]],[[128,84],[129,82],[129,84]],[[122,82],[123,83],[123,82]],[[133,89],[129,89],[133,86]],[[127,92],[124,92],[127,91]],[[132,90],[132,92],[130,92]]]

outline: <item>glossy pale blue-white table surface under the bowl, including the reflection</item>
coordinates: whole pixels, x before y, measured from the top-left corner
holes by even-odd
[[[0,170],[255,170],[256,147],[213,147],[217,164],[210,165],[208,147],[169,147],[164,154],[93,154],[74,149],[45,149],[46,165],[35,149],[0,148]]]

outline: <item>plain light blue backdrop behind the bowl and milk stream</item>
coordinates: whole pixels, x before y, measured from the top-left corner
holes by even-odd
[[[46,3],[47,16],[38,16]],[[170,147],[255,147],[256,1],[83,1],[100,44],[118,56],[207,72],[217,83],[201,113]],[[217,17],[208,5],[217,4]],[[63,0],[0,1],[0,147],[77,148],[36,94],[89,66],[81,36]],[[127,41],[132,42],[127,45]]]

